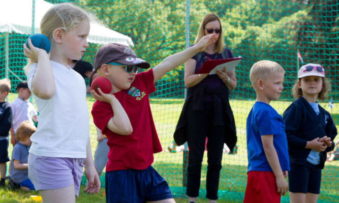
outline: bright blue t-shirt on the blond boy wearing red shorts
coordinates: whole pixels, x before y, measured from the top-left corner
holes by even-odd
[[[262,135],[273,135],[273,146],[283,171],[290,170],[285,122],[270,105],[255,102],[246,121],[248,171],[272,171],[262,144]]]

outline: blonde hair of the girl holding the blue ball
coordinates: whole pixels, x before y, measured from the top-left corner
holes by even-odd
[[[45,35],[49,39],[51,42],[51,49],[53,49],[55,45],[53,32],[55,29],[61,28],[61,30],[68,33],[85,21],[96,21],[96,19],[93,14],[74,6],[73,4],[57,4],[51,7],[42,17],[40,30],[41,34]],[[23,68],[26,75],[29,66],[33,63],[34,62],[30,59],[27,59],[27,64]]]

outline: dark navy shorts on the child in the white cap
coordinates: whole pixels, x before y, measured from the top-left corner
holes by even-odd
[[[289,191],[296,193],[320,193],[321,169],[308,161],[304,165],[290,163],[288,172]]]

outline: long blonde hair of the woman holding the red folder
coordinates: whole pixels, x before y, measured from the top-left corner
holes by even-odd
[[[197,44],[200,41],[200,39],[205,36],[205,33],[204,33],[205,25],[207,23],[215,21],[215,20],[219,21],[220,28],[221,28],[221,32],[220,32],[219,38],[218,38],[217,42],[215,42],[215,51],[217,51],[218,53],[222,53],[224,51],[224,47],[225,47],[223,27],[221,25],[221,21],[220,21],[219,16],[217,14],[215,14],[215,13],[206,14],[202,18],[202,21],[200,23],[198,34],[197,34],[197,37],[195,38],[194,44]]]

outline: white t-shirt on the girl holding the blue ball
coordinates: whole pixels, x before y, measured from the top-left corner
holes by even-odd
[[[73,69],[50,62],[55,94],[49,100],[33,94],[40,114],[37,132],[30,137],[33,143],[29,153],[46,157],[86,158],[89,114],[85,81]],[[28,88],[31,91],[37,65],[32,64],[28,70]]]

